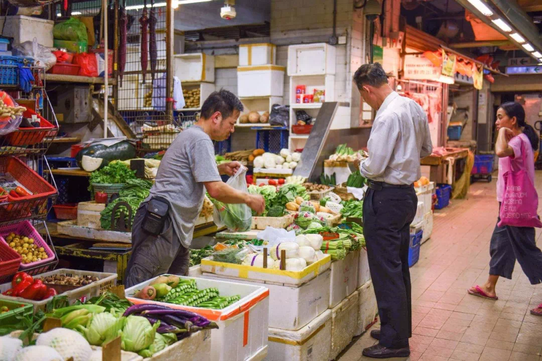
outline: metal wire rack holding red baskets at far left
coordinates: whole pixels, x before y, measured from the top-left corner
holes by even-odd
[[[8,65],[0,65],[0,71]],[[4,226],[16,224],[23,220],[30,220],[36,230],[41,233],[43,240],[51,248],[54,253],[54,259],[50,262],[37,265],[32,268],[25,269],[25,272],[34,275],[42,272],[54,270],[59,260],[53,246],[45,219],[50,208],[56,201],[58,191],[56,191],[56,183],[51,175],[49,164],[45,157],[45,153],[53,142],[59,130],[53,107],[49,101],[45,91],[45,69],[41,67],[28,66],[35,78],[33,88],[30,92],[25,93],[18,86],[11,84],[0,84],[0,89],[3,89],[10,94],[17,103],[23,106],[32,105],[36,109],[36,113],[49,121],[53,127],[47,130],[36,129],[17,129],[8,135],[0,136],[0,159],[5,157],[16,157],[28,166],[31,170],[42,176],[46,181],[54,187],[55,192],[48,195],[40,196],[31,200],[22,200],[15,202],[0,203],[0,229]],[[18,81],[17,81],[18,83]],[[40,133],[41,132],[41,133]],[[45,132],[45,134],[43,134]],[[14,139],[17,141],[14,143]],[[2,172],[7,172],[8,169],[2,169]]]

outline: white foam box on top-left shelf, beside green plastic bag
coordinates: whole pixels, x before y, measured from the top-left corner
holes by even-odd
[[[37,17],[15,15],[0,18],[0,27],[4,29],[3,36],[13,38],[13,45],[33,41],[36,38],[37,43],[46,48],[53,47],[53,27],[55,22],[52,20],[40,19]]]

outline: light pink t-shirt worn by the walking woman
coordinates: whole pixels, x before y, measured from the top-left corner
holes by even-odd
[[[524,143],[523,149],[526,153],[526,165],[523,164],[523,155],[521,154],[521,142]],[[497,200],[499,202],[502,202],[502,199],[505,195],[505,181],[503,176],[506,172],[508,172],[508,170],[511,170],[512,162],[514,162],[515,170],[526,169],[527,175],[534,183],[534,153],[529,138],[525,134],[521,133],[520,135],[513,137],[508,142],[508,145],[512,149],[514,149],[514,157],[507,156],[504,158],[499,158],[499,176],[497,179]]]

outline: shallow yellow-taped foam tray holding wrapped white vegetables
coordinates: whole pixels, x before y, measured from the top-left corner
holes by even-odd
[[[217,235],[217,237],[219,236]],[[288,285],[292,287],[298,287],[307,283],[311,279],[317,277],[318,274],[325,272],[330,266],[330,255],[325,255],[324,258],[308,265],[301,271],[272,270],[271,268],[236,265],[213,261],[212,257],[203,258],[201,261],[203,272],[222,275],[229,279],[265,281],[267,283]]]

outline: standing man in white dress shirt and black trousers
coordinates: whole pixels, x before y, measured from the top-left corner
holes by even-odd
[[[380,330],[371,332],[379,343],[363,355],[407,357],[412,336],[409,228],[418,202],[413,183],[421,178],[420,158],[433,149],[429,124],[420,105],[391,89],[379,63],[362,65],[354,82],[363,100],[377,110],[369,157],[356,162],[369,185],[363,233],[380,317]]]

